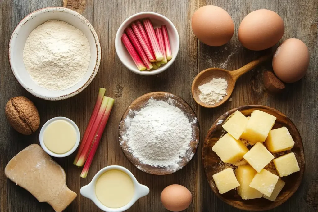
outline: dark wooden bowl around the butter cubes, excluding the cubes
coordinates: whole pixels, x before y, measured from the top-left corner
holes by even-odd
[[[236,189],[233,189],[221,195],[212,178],[213,174],[216,174],[224,170],[225,167],[227,167],[227,164],[223,163],[221,159],[218,157],[218,155],[212,151],[212,146],[219,140],[220,137],[222,137],[225,134],[225,130],[223,129],[222,125],[236,110],[239,110],[245,116],[249,116],[252,113],[252,111],[256,109],[275,116],[277,119],[273,129],[287,127],[289,133],[292,135],[295,141],[295,145],[290,151],[295,154],[300,171],[290,174],[286,177],[282,177],[282,180],[285,181],[286,184],[274,202],[267,200],[265,198],[243,200],[238,195]],[[238,209],[249,211],[269,210],[286,202],[286,200],[295,193],[295,191],[301,184],[301,180],[305,170],[304,147],[302,144],[301,136],[297,128],[295,127],[294,123],[280,111],[262,105],[246,105],[234,108],[226,112],[218,120],[216,120],[204,139],[202,149],[202,162],[207,180],[214,193],[227,204]]]

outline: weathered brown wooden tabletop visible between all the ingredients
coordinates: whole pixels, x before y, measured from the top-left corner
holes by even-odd
[[[191,30],[191,16],[199,7],[212,4],[229,12],[235,23],[235,33],[228,44],[221,47],[206,46],[197,41]],[[187,187],[193,201],[188,212],[239,211],[219,200],[209,187],[201,163],[204,137],[211,124],[233,107],[260,104],[285,113],[298,127],[305,148],[306,169],[298,191],[283,205],[272,211],[318,210],[318,38],[317,0],[68,0],[64,6],[79,11],[95,28],[102,49],[99,72],[93,82],[80,94],[67,100],[46,101],[32,96],[14,78],[8,62],[8,43],[18,22],[30,12],[48,6],[63,6],[62,0],[3,0],[0,1],[0,211],[53,211],[47,203],[39,203],[29,192],[16,186],[4,175],[8,161],[24,147],[39,143],[39,130],[24,136],[13,130],[5,120],[4,107],[14,96],[26,96],[38,108],[40,127],[56,116],[75,121],[81,133],[92,112],[99,87],[115,98],[115,105],[86,179],[79,177],[81,169],[73,165],[74,154],[64,159],[54,158],[66,171],[66,183],[78,196],[65,211],[100,211],[92,201],[79,194],[81,186],[91,181],[94,174],[108,165],[121,165],[150,188],[150,193],[137,201],[128,211],[167,211],[160,202],[163,188],[170,184]],[[269,9],[277,12],[285,22],[287,38],[299,38],[307,44],[310,66],[299,82],[287,85],[278,95],[267,93],[262,84],[262,71],[271,63],[245,74],[236,84],[232,101],[215,109],[198,106],[192,99],[191,83],[198,72],[209,67],[234,70],[262,52],[244,49],[238,41],[237,30],[241,20],[251,11]],[[141,76],[130,72],[115,53],[114,39],[120,24],[129,16],[142,11],[154,11],[168,17],[180,36],[180,51],[171,67],[156,76]],[[125,109],[137,97],[153,91],[171,92],[187,101],[197,114],[201,127],[201,141],[197,154],[182,170],[166,176],[143,173],[124,156],[118,142],[118,124]]]

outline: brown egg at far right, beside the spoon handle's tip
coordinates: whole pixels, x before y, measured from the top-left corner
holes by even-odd
[[[273,70],[283,82],[300,80],[309,67],[309,52],[306,44],[296,38],[285,40],[273,57]]]

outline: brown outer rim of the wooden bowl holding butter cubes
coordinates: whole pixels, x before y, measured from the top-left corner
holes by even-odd
[[[202,166],[203,166],[203,169],[204,169],[204,174],[205,174],[205,177],[206,177],[206,180],[208,181],[208,173],[207,173],[207,170],[205,168],[205,151],[204,151],[204,147],[206,146],[209,138],[211,137],[211,135],[213,134],[213,132],[215,131],[216,128],[220,127],[219,125],[225,121],[229,115],[233,114],[235,111],[239,110],[244,110],[244,109],[249,109],[249,108],[255,108],[255,109],[266,109],[266,110],[270,110],[270,111],[273,111],[275,113],[278,113],[280,114],[281,116],[283,116],[285,118],[285,120],[289,121],[292,125],[292,127],[296,130],[296,132],[300,135],[297,127],[295,126],[295,124],[293,123],[292,120],[290,120],[284,113],[281,113],[279,110],[277,109],[274,109],[272,107],[269,107],[269,106],[265,106],[265,105],[244,105],[244,106],[239,106],[239,107],[235,107],[229,111],[227,111],[226,113],[224,113],[223,115],[221,115],[213,124],[212,126],[210,127],[210,129],[208,130],[208,133],[206,134],[205,138],[204,138],[204,142],[203,142],[203,146],[202,146],[202,155],[201,155],[201,160],[202,160]],[[300,136],[300,139],[301,139],[301,136]],[[242,206],[239,206],[238,204],[233,204],[233,201],[232,200],[228,200],[226,198],[224,198],[221,194],[217,193],[215,191],[215,189],[213,189],[211,187],[211,184],[210,182],[208,181],[209,183],[209,186],[211,188],[211,190],[214,192],[214,194],[219,198],[221,199],[223,202],[231,205],[232,207],[234,208],[237,208],[237,209],[241,209],[241,210],[248,210],[248,211],[264,211],[264,210],[270,210],[270,209],[274,209],[278,206],[280,206],[281,204],[283,204],[284,202],[286,202],[299,188],[299,186],[301,185],[301,182],[302,182],[302,178],[304,176],[304,170],[306,168],[306,163],[305,163],[305,150],[304,150],[304,144],[302,142],[302,139],[300,140],[301,141],[301,147],[302,147],[302,158],[303,158],[303,167],[300,167],[300,180],[297,181],[297,184],[296,185],[296,188],[293,189],[288,195],[286,195],[285,199],[283,199],[282,201],[280,201],[278,204],[271,204],[269,205],[269,207],[266,207],[266,208],[261,208],[261,209],[246,209],[244,207],[244,205]],[[274,202],[273,202],[274,203]]]

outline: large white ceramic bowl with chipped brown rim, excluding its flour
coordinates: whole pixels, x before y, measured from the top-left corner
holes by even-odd
[[[26,39],[32,30],[48,20],[64,21],[81,30],[88,39],[91,48],[91,59],[83,79],[64,91],[51,91],[37,85],[25,69],[23,49]],[[87,87],[94,79],[100,65],[100,43],[93,26],[79,13],[64,7],[47,7],[31,12],[24,17],[14,29],[9,43],[9,62],[18,82],[31,94],[47,100],[70,98]]]

